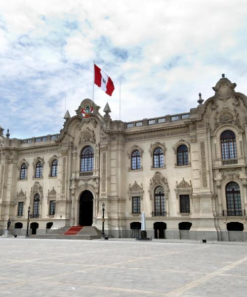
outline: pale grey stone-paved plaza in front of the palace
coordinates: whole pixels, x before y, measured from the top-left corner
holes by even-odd
[[[246,297],[247,245],[0,238],[0,297]]]

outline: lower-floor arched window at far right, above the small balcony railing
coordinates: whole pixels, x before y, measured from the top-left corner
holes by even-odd
[[[226,185],[227,215],[243,215],[239,185],[230,182]]]

